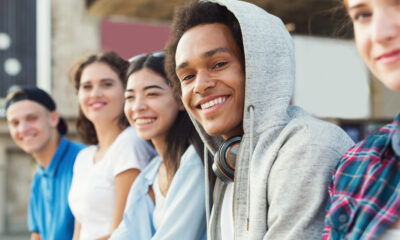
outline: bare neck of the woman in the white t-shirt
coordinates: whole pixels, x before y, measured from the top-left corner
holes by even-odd
[[[97,134],[99,150],[105,151],[108,149],[118,135],[123,131],[118,124],[94,124],[94,128]]]

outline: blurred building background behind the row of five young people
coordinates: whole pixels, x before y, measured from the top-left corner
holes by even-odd
[[[0,0],[0,239],[27,239],[30,156],[12,142],[4,97],[14,84],[36,85],[56,100],[69,138],[78,104],[69,69],[83,54],[114,50],[128,59],[163,49],[175,6],[186,0]],[[363,65],[336,0],[252,0],[279,16],[296,49],[293,103],[338,124],[358,141],[391,121],[400,96]]]

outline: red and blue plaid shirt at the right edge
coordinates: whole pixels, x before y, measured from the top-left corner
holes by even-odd
[[[399,120],[400,114],[340,160],[322,239],[376,239],[400,216],[400,159],[392,147]]]

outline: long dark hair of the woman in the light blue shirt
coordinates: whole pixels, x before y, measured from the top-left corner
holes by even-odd
[[[136,71],[148,68],[164,78],[165,82],[171,86],[171,81],[167,78],[164,70],[164,54],[162,52],[141,55],[136,58],[128,68],[126,79]],[[176,101],[181,102],[175,96]],[[168,178],[171,180],[179,168],[180,159],[186,149],[193,145],[200,158],[203,159],[203,142],[193,126],[186,111],[179,111],[171,128],[168,130],[164,146],[163,162],[167,168]]]

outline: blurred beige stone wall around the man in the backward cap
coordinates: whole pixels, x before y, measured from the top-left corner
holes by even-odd
[[[68,80],[68,71],[82,54],[100,49],[100,20],[85,13],[85,2],[82,0],[39,1],[41,1],[41,7],[48,4],[50,15],[45,21],[48,22],[51,32],[50,39],[47,39],[51,43],[49,46],[51,65],[50,67],[37,66],[37,69],[50,69],[50,80],[44,80],[45,82],[42,82],[40,86],[48,86],[48,89],[45,87],[46,90],[55,99],[61,115],[68,120],[70,128],[68,137],[76,139],[74,117],[78,108],[73,84]],[[43,1],[46,2],[44,5]],[[43,9],[38,10],[43,11]],[[43,24],[43,15],[38,21]],[[28,238],[26,211],[30,182],[35,169],[36,164],[32,157],[23,153],[11,140],[4,112],[2,112],[0,118],[0,239]]]

